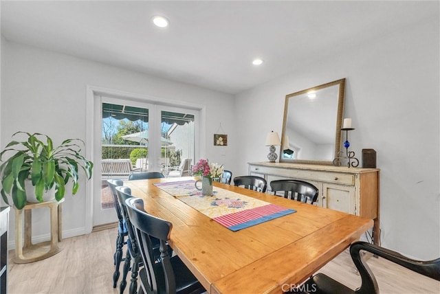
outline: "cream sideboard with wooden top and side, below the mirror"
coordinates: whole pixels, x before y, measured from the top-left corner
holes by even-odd
[[[267,181],[267,193],[272,193],[270,182],[280,179],[299,179],[316,185],[319,206],[372,218],[373,242],[380,244],[379,169],[252,162],[249,174]]]

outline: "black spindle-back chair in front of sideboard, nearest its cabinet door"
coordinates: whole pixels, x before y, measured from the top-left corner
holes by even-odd
[[[287,199],[303,203],[315,203],[318,200],[318,188],[306,181],[293,179],[276,180],[270,182],[270,188],[275,195],[277,195],[277,192],[283,192],[284,198]]]

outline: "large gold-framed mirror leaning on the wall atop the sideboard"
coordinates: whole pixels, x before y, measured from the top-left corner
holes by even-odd
[[[341,146],[345,79],[286,95],[280,162],[331,165]]]

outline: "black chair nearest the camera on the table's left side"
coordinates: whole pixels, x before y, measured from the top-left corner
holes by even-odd
[[[167,241],[173,225],[144,211],[144,201],[126,200],[131,224],[135,229],[144,267],[140,270],[141,286],[138,293],[203,293],[206,289],[178,256],[170,257]],[[159,262],[153,254],[152,238],[159,239]]]

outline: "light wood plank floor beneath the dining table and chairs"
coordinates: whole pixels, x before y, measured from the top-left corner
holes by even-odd
[[[118,289],[113,289],[112,282],[115,230],[104,229],[67,238],[61,242],[63,250],[60,253],[38,262],[14,264],[11,260],[14,251],[10,251],[9,293],[119,293]],[[440,293],[440,282],[402,269],[382,258],[369,258],[368,264],[375,273],[382,294]],[[360,277],[355,273],[347,251],[321,271],[352,289],[360,285]]]

